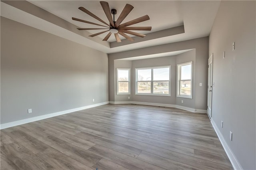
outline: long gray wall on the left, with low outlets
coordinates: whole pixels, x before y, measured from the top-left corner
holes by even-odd
[[[106,101],[106,53],[1,17],[1,124]]]

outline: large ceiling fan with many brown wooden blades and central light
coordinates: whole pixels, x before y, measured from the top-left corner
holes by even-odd
[[[115,35],[116,42],[121,42],[121,39],[120,39],[118,34],[120,34],[121,36],[123,36],[124,38],[126,38],[126,39],[128,39],[130,41],[134,41],[134,39],[131,38],[130,36],[128,36],[127,34],[131,34],[131,35],[134,35],[134,36],[139,36],[139,37],[142,37],[142,38],[145,37],[146,35],[140,34],[140,33],[136,33],[136,32],[132,32],[132,31],[129,31],[129,30],[150,31],[151,28],[152,28],[150,26],[146,26],[146,27],[128,27],[130,25],[137,24],[139,22],[144,22],[146,20],[149,20],[149,16],[148,15],[145,15],[145,16],[142,16],[140,18],[136,18],[134,20],[126,22],[124,24],[121,24],[122,21],[124,20],[124,18],[126,18],[126,16],[134,8],[130,4],[126,4],[126,6],[122,10],[120,16],[118,17],[118,19],[116,21],[115,21],[116,9],[112,9],[111,12],[110,12],[110,8],[109,8],[109,5],[108,5],[108,2],[100,1],[100,4],[101,4],[101,6],[102,6],[102,8],[103,8],[107,18],[108,18],[108,21],[110,22],[110,24],[104,22],[102,19],[98,18],[96,15],[92,14],[90,11],[86,10],[84,7],[79,7],[78,9],[80,9],[81,11],[85,12],[86,14],[92,16],[96,20],[102,22],[106,26],[72,17],[72,20],[76,20],[76,21],[80,21],[80,22],[84,22],[84,23],[92,24],[92,25],[96,25],[96,26],[105,27],[105,28],[77,28],[78,30],[106,30],[106,31],[103,31],[103,32],[92,34],[92,35],[90,35],[90,37],[98,36],[98,35],[103,34],[105,32],[109,32],[107,34],[107,36],[103,39],[103,41],[107,41],[112,33]],[[112,15],[111,14],[113,14],[113,18],[114,19],[112,19]]]

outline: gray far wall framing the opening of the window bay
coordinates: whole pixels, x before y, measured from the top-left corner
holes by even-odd
[[[195,59],[195,62],[193,63],[194,66],[196,65],[195,71],[194,71],[195,72],[195,76],[194,76],[195,94],[193,96],[193,99],[195,100],[194,101],[195,104],[194,104],[194,107],[192,107],[192,108],[206,110],[206,107],[207,107],[208,37],[109,54],[108,55],[109,101],[115,101],[115,94],[116,94],[116,91],[114,89],[114,83],[115,83],[114,60],[142,56],[142,55],[165,53],[165,52],[170,52],[170,51],[179,51],[179,50],[184,50],[184,49],[196,49],[195,50],[196,51],[195,52],[196,59]],[[191,60],[189,60],[189,61],[191,61]],[[136,62],[136,61],[133,61],[133,62]],[[152,62],[150,61],[151,64],[153,64],[153,62],[154,61],[152,61]],[[148,64],[150,64],[150,63],[148,63]],[[174,68],[172,68],[172,70],[173,69]],[[134,75],[134,73],[132,73],[132,75]],[[131,82],[131,83],[134,84],[134,82]],[[202,83],[203,86],[199,87],[199,83]],[[171,92],[171,93],[173,96],[176,92],[175,93]],[[134,91],[132,91],[132,94],[134,94]],[[147,102],[147,101],[144,101],[144,98],[145,98],[145,100],[148,100],[148,98],[143,97],[143,96],[138,97],[136,99],[134,98],[134,100],[141,100],[140,102]],[[166,98],[166,97],[161,97],[161,98],[162,98],[161,101],[164,102],[165,101],[164,98]],[[159,103],[159,98],[155,97],[153,100],[150,100],[150,103]]]

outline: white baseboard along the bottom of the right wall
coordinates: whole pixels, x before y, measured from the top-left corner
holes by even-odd
[[[218,129],[216,123],[213,120],[211,120],[211,123],[212,123],[212,126],[213,126],[215,132],[218,135],[218,138],[220,139],[220,142],[221,142],[226,154],[228,155],[228,158],[229,158],[234,170],[242,170],[241,165],[239,164],[238,160],[234,156],[232,150],[229,148],[227,142],[225,141],[224,137],[222,136],[222,134],[221,134],[220,130]]]

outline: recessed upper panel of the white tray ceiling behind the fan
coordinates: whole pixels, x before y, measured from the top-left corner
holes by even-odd
[[[82,20],[94,22],[97,24],[102,24],[98,20],[92,18],[88,14],[82,12],[78,9],[78,7],[82,6],[104,20],[108,22],[104,11],[100,5],[100,1],[68,1],[68,0],[30,0],[32,4],[43,8],[44,10],[68,21],[72,24],[78,26],[79,28],[102,28],[100,26],[94,26],[91,24],[86,24],[83,22],[74,21],[71,18],[79,18]],[[134,6],[133,10],[128,14],[128,16],[124,19],[122,23],[128,22],[130,20],[134,20],[144,15],[148,15],[150,20],[144,21],[138,24],[134,24],[133,26],[152,26],[151,31],[135,31],[142,34],[148,34],[150,32],[156,32],[160,30],[164,30],[167,28],[172,28],[176,26],[183,25],[182,12],[180,9],[181,1],[107,1],[110,9],[116,9],[117,14],[115,15],[115,20],[117,20],[118,16],[122,12],[124,6],[126,4],[130,4]],[[113,15],[112,15],[113,17]],[[104,25],[104,24],[103,24]],[[90,30],[89,32],[92,34],[102,32],[104,30]],[[104,33],[99,35],[100,38],[104,38],[108,33]],[[131,36],[132,37],[132,36]],[[120,37],[122,39],[122,37]],[[114,35],[112,35],[108,42],[114,42],[116,39]]]

